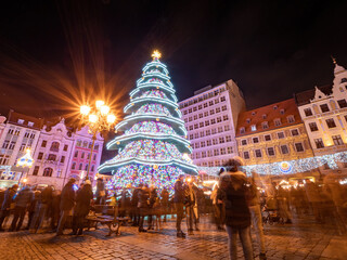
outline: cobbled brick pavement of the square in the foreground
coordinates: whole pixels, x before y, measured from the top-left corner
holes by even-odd
[[[112,237],[105,237],[105,229],[85,232],[81,237],[4,232],[0,233],[0,259],[228,259],[226,232],[216,231],[207,218],[202,222],[201,231],[187,238],[176,237],[174,221],[165,223],[160,232],[138,233],[136,227],[125,226],[121,236]],[[268,259],[347,259],[347,250],[343,250],[347,237],[335,233],[332,226],[303,221],[265,225]],[[240,258],[242,255],[239,245]]]

